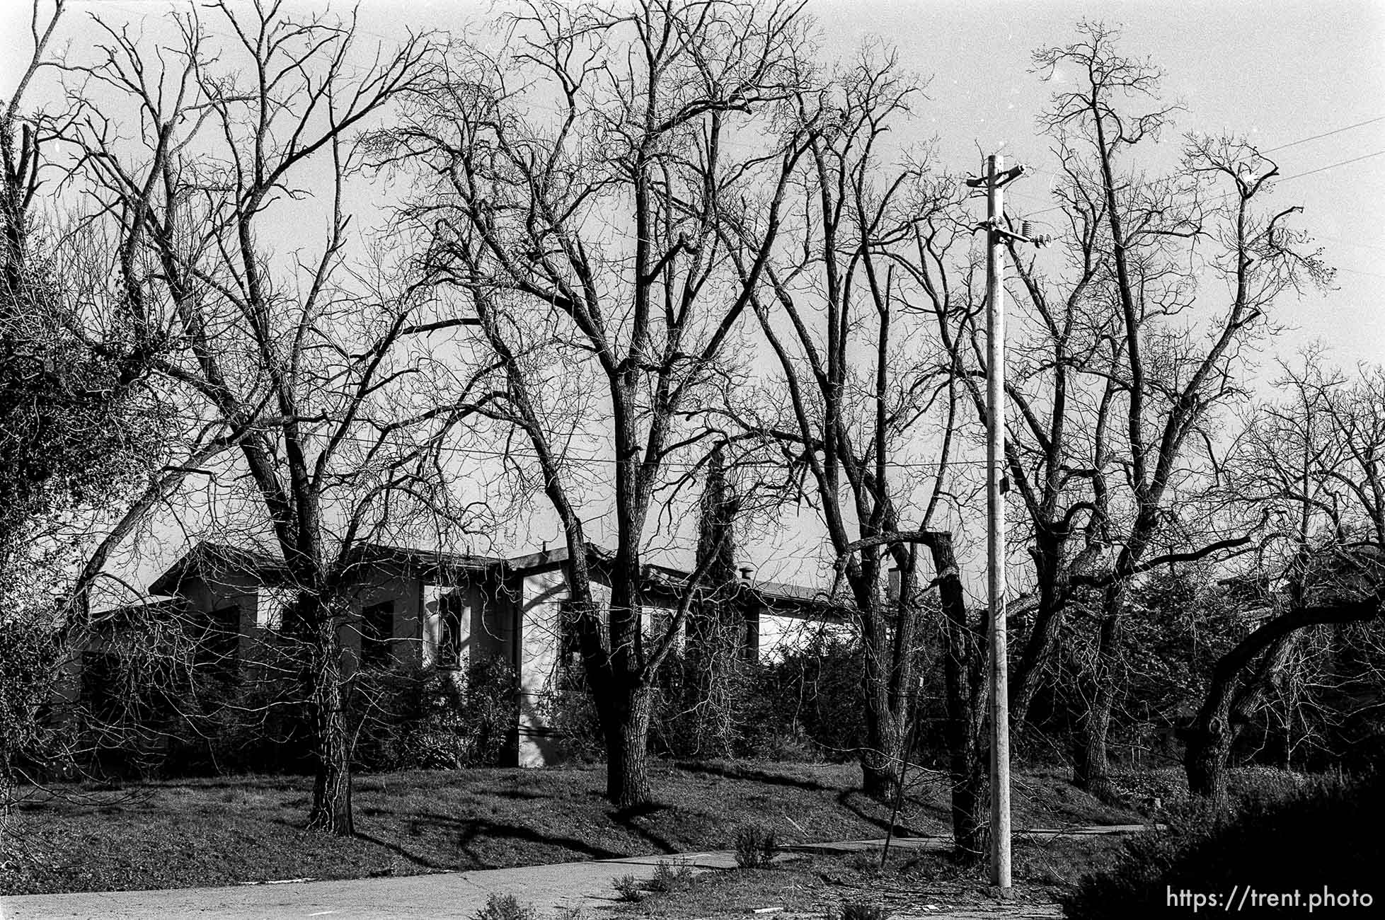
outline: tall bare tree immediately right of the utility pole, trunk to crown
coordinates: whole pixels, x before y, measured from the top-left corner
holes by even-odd
[[[1090,202],[1083,216],[1100,215],[1097,303],[1111,310],[1104,348],[1084,369],[1109,388],[1083,466],[1093,490],[1090,513],[1111,549],[1101,571],[1069,579],[1100,592],[1097,636],[1079,669],[1090,702],[1075,755],[1079,784],[1105,793],[1130,579],[1159,561],[1197,558],[1249,539],[1241,532],[1190,540],[1198,528],[1188,520],[1170,524],[1198,474],[1190,439],[1210,443],[1217,406],[1242,396],[1244,353],[1269,328],[1274,301],[1327,276],[1314,255],[1298,251],[1302,234],[1287,226],[1298,208],[1265,216],[1255,206],[1278,170],[1249,144],[1190,136],[1173,179],[1132,172],[1132,150],[1158,137],[1173,112],[1156,101],[1150,111],[1129,111],[1156,100],[1161,72],[1122,57],[1118,35],[1102,25],[1083,24],[1079,32],[1069,46],[1037,51],[1035,64],[1050,76],[1057,68],[1078,73],[1072,89],[1054,96],[1043,123],[1069,165],[1078,190],[1069,195],[1073,211]],[[1220,188],[1223,194],[1210,197]],[[1202,272],[1222,284],[1199,284]],[[1212,306],[1220,291],[1226,301]],[[1181,326],[1188,316],[1198,320],[1197,331]],[[1161,542],[1169,553],[1159,554]]]

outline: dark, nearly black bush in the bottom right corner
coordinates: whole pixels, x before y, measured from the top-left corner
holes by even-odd
[[[1065,916],[1191,916],[1192,905],[1169,903],[1169,890],[1223,898],[1235,885],[1296,888],[1305,896],[1324,885],[1332,892],[1360,890],[1385,859],[1381,837],[1361,829],[1381,819],[1385,790],[1373,781],[1319,779],[1295,788],[1255,783],[1223,813],[1191,801],[1170,812],[1169,830],[1132,837],[1111,869],[1083,878],[1064,899]],[[1305,909],[1298,905],[1292,913]]]

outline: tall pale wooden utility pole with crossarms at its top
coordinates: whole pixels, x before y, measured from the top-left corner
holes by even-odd
[[[1006,258],[1007,241],[1044,245],[1006,226],[1003,188],[1025,173],[1001,172],[1004,158],[986,158],[986,175],[968,179],[986,190],[986,617],[990,632],[990,884],[1010,895],[1010,672],[1006,655]]]

